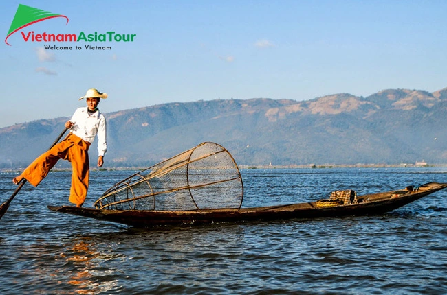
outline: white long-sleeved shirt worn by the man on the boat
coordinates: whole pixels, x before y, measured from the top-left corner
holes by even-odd
[[[107,152],[106,121],[104,115],[99,110],[89,115],[87,106],[85,106],[75,110],[70,121],[74,123],[71,132],[89,143],[92,143],[95,135],[98,134],[98,156],[104,156],[105,152]]]

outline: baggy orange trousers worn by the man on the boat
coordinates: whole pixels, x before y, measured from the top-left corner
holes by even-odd
[[[59,159],[68,160],[72,163],[72,187],[68,200],[82,205],[89,188],[89,146],[90,143],[70,133],[63,141],[36,158],[23,170],[21,176],[37,187]]]

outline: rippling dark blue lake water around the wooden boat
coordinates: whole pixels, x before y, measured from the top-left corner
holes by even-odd
[[[131,171],[91,172],[85,207]],[[243,207],[447,182],[447,168],[242,170]],[[15,174],[0,173],[0,202]],[[69,172],[0,220],[0,294],[447,294],[447,189],[391,213],[138,229],[56,213]]]

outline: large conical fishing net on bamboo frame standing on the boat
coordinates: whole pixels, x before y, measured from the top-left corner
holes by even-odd
[[[118,182],[95,202],[98,209],[239,210],[243,183],[230,152],[201,143]]]

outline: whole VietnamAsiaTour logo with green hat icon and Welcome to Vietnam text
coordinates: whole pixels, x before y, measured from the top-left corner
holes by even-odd
[[[91,32],[91,34],[85,33],[84,31],[79,32],[78,34],[54,34],[49,32],[34,32],[34,31],[28,31],[23,32],[22,29],[25,29],[25,27],[28,27],[34,23],[39,23],[40,21],[45,21],[47,19],[54,19],[56,17],[63,17],[67,19],[68,24],[68,17],[62,14],[56,14],[49,11],[41,10],[39,8],[33,8],[27,5],[19,4],[19,7],[17,8],[17,12],[14,15],[14,19],[12,19],[10,30],[8,31],[8,34],[5,38],[5,43],[7,45],[10,45],[8,43],[8,38],[16,33],[20,32],[23,41],[24,42],[38,42],[38,43],[49,43],[52,42],[54,44],[46,44],[44,45],[45,49],[50,50],[81,50],[83,48],[87,50],[111,50],[110,46],[92,46],[92,45],[84,45],[84,47],[81,46],[58,46],[61,45],[61,43],[64,42],[80,42],[84,41],[85,43],[90,42],[98,42],[98,43],[127,43],[127,42],[133,42],[135,40],[135,37],[137,34],[118,34],[114,31],[107,31],[107,32]],[[58,44],[56,44],[58,43]],[[11,46],[11,45],[10,45]]]

